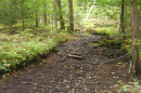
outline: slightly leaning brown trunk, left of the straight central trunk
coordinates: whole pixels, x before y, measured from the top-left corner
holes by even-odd
[[[62,8],[61,8],[61,0],[57,0],[57,5],[59,5],[59,15],[60,15],[61,29],[65,29],[64,18],[63,18],[63,13],[62,13]]]

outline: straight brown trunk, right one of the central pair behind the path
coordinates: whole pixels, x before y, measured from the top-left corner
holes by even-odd
[[[69,3],[69,30],[74,31],[74,10],[73,10],[73,0],[68,0]]]

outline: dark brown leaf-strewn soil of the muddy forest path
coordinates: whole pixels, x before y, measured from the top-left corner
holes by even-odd
[[[123,54],[119,49],[89,44],[104,38],[91,35],[68,40],[40,63],[2,75],[0,93],[117,93],[117,81],[132,81],[130,62],[106,63]]]

